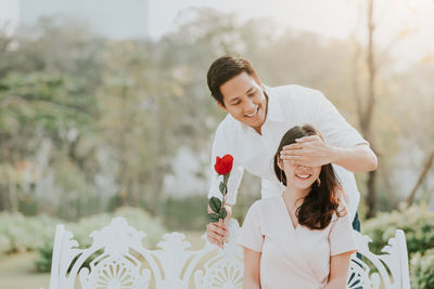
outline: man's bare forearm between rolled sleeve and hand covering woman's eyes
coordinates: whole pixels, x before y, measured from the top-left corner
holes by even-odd
[[[373,171],[378,167],[378,159],[372,149],[360,144],[350,148],[331,147],[332,163],[339,165],[352,172]]]

